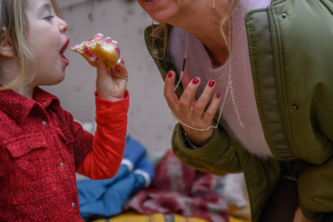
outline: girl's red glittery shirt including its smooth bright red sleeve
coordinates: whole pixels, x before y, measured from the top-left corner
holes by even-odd
[[[75,171],[114,176],[126,138],[129,96],[95,93],[97,130],[83,130],[57,97],[36,87],[34,100],[0,91],[0,221],[81,221]]]

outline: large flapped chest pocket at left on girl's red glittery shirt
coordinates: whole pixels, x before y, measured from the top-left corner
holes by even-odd
[[[52,151],[41,134],[10,139],[8,174],[14,204],[23,204],[53,195],[58,175]]]

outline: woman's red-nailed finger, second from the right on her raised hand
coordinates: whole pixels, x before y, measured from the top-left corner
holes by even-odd
[[[193,118],[201,118],[202,113],[211,98],[211,94],[213,93],[214,88],[215,81],[210,80],[193,107]]]

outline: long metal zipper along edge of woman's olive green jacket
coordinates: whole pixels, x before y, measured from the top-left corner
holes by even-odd
[[[287,143],[287,147],[289,149],[290,154],[293,157],[296,157],[292,150],[291,150],[291,145],[288,139],[288,129],[286,128],[285,125],[285,119],[284,119],[284,112],[282,109],[282,103],[281,103],[281,95],[280,95],[280,88],[279,88],[279,81],[278,81],[278,72],[277,72],[277,59],[276,59],[276,48],[275,48],[275,42],[274,42],[274,30],[273,30],[273,21],[272,21],[272,11],[269,6],[267,6],[267,14],[268,14],[268,23],[269,23],[269,31],[270,31],[270,36],[271,36],[271,42],[272,42],[272,51],[273,51],[273,64],[274,64],[274,75],[275,75],[275,85],[276,85],[276,94],[277,94],[277,103],[279,106],[279,114],[280,114],[280,120],[282,124],[282,131],[284,134],[284,139]]]

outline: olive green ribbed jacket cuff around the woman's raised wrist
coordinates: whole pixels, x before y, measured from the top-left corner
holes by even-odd
[[[214,128],[213,134],[207,143],[198,149],[193,149],[186,141],[183,134],[183,127],[180,123],[175,126],[173,131],[173,143],[177,144],[180,155],[197,157],[208,164],[215,163],[221,157],[227,149],[229,141],[230,138],[224,130]]]

